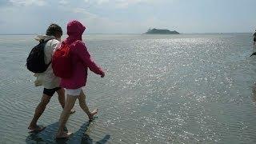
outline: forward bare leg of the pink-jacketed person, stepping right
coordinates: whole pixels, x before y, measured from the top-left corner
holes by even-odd
[[[86,112],[86,114],[88,115],[88,118],[92,120],[94,118],[94,115],[98,113],[98,109],[95,109],[92,112],[90,112],[88,106],[86,106],[86,95],[83,93],[82,90],[80,95],[78,96],[78,100],[79,100],[79,106],[82,108],[84,112]]]

